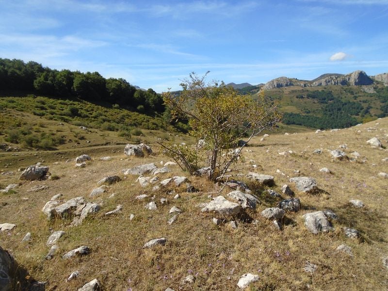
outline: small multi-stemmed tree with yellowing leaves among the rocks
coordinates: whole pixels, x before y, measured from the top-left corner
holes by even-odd
[[[272,129],[281,115],[275,104],[265,102],[263,92],[257,100],[241,96],[224,82],[206,83],[208,73],[203,77],[191,73],[189,79],[180,84],[183,91],[179,96],[170,92],[162,95],[172,118],[189,119],[189,133],[200,146],[161,145],[167,155],[192,175],[203,157],[201,152],[206,153],[207,173],[215,180],[237,162],[242,148],[252,137],[264,129]],[[242,138],[247,138],[246,142],[242,142]]]

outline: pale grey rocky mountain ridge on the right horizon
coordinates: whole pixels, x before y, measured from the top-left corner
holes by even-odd
[[[380,74],[374,77],[376,81],[388,82],[387,74]],[[263,87],[263,90],[271,90],[274,88],[288,87],[288,86],[301,86],[301,87],[317,87],[326,85],[350,85],[350,86],[363,86],[372,85],[373,79],[369,77],[364,71],[354,71],[353,73],[342,74],[323,74],[318,78],[306,81],[298,80],[295,78],[279,77],[268,81]]]

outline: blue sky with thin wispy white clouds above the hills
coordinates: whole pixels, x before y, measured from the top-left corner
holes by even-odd
[[[388,0],[0,0],[0,58],[178,90],[388,72]]]

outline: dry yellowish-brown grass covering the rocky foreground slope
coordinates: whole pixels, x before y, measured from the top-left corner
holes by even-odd
[[[256,211],[248,214],[257,224],[238,221],[238,229],[233,230],[226,224],[215,226],[213,215],[202,214],[197,204],[210,201],[208,195],[217,195],[220,187],[203,178],[189,177],[190,182],[200,190],[186,193],[185,187],[166,189],[156,193],[151,187],[141,188],[135,182],[137,177],[129,176],[111,186],[107,193],[91,199],[89,193],[97,187],[97,181],[107,175],[120,175],[121,170],[142,163],[166,162],[166,157],[155,155],[144,159],[125,159],[120,151],[112,153],[112,148],[89,148],[79,152],[68,152],[75,157],[83,152],[90,154],[94,161],[84,169],[75,169],[73,163],[65,163],[64,158],[42,152],[50,172],[60,177],[58,180],[22,181],[14,194],[0,194],[0,223],[16,223],[17,227],[9,233],[0,233],[0,245],[9,250],[36,280],[47,280],[48,290],[77,290],[84,283],[98,278],[103,290],[237,290],[237,281],[244,273],[260,276],[250,290],[386,290],[388,270],[382,265],[381,258],[388,255],[387,236],[387,179],[377,176],[388,172],[388,163],[381,159],[388,157],[385,149],[371,148],[366,141],[378,136],[384,146],[388,146],[388,118],[338,132],[304,132],[290,135],[271,135],[264,142],[260,137],[253,141],[254,147],[247,147],[242,164],[235,173],[246,174],[254,171],[275,176],[275,186],[289,183],[294,170],[300,176],[316,178],[322,190],[316,194],[296,193],[301,199],[302,210],[287,213],[283,231],[275,230],[272,222],[260,217],[261,210],[275,206],[276,201],[262,193],[257,187],[262,204]],[[371,132],[367,128],[375,127]],[[362,132],[357,133],[360,129]],[[357,151],[365,163],[332,161],[327,149],[347,144],[344,151],[350,155]],[[316,148],[322,148],[321,155],[313,155]],[[292,150],[293,154],[281,156],[278,153]],[[112,161],[98,161],[99,157],[110,155]],[[33,160],[33,157],[28,162]],[[9,157],[11,158],[11,157]],[[7,169],[17,171],[26,166],[27,161],[14,162]],[[41,158],[35,156],[39,162]],[[67,158],[67,157],[66,157]],[[122,160],[123,159],[123,160]],[[252,167],[254,160],[258,168]],[[54,164],[54,162],[59,162]],[[329,168],[333,174],[319,171]],[[276,173],[279,169],[285,176]],[[162,178],[185,175],[180,169],[172,167],[173,172],[163,174]],[[374,178],[371,178],[374,177]],[[19,182],[18,175],[0,176],[0,184]],[[240,177],[241,178],[241,177]],[[245,180],[245,178],[241,178]],[[245,180],[246,181],[246,180]],[[246,181],[249,183],[249,181]],[[290,184],[290,183],[289,183]],[[27,192],[34,185],[47,185],[49,189],[40,192]],[[294,185],[291,189],[296,191]],[[174,190],[174,193],[169,191]],[[254,189],[255,190],[255,189]],[[222,194],[227,194],[224,189]],[[87,218],[80,226],[69,226],[69,220],[49,222],[41,212],[42,207],[54,194],[62,193],[64,199],[84,196],[87,200],[102,203],[102,210]],[[108,197],[116,193],[113,198]],[[158,210],[150,211],[144,205],[151,201],[137,201],[139,194],[155,195]],[[181,198],[174,200],[179,193]],[[210,194],[209,194],[210,193]],[[160,198],[168,198],[161,205]],[[28,198],[26,200],[25,198]],[[350,199],[360,199],[366,205],[356,209],[348,204]],[[123,205],[120,214],[105,217],[103,213],[113,210],[117,204]],[[172,216],[168,211],[172,206],[183,210],[178,220],[171,226],[166,222]],[[316,210],[331,209],[339,216],[333,221],[335,231],[313,235],[303,223],[302,215]],[[130,221],[129,215],[135,214]],[[358,229],[359,240],[346,238],[342,227]],[[49,251],[46,241],[50,230],[64,230],[65,238],[58,242],[60,247],[56,256],[49,261],[44,257]],[[32,233],[32,241],[21,243],[25,233]],[[166,237],[165,246],[143,249],[148,240]],[[352,247],[354,257],[336,252],[337,246],[347,244]],[[88,245],[91,253],[87,256],[64,260],[61,255],[81,246]],[[311,275],[305,273],[306,261],[318,266]],[[80,276],[70,282],[66,278],[71,272],[79,270]],[[181,285],[187,275],[196,277],[193,285]],[[248,289],[249,290],[249,289]]]

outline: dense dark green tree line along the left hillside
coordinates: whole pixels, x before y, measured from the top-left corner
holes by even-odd
[[[0,58],[0,90],[24,90],[45,96],[79,97],[107,102],[140,113],[163,113],[162,97],[136,89],[124,79],[105,79],[98,72],[53,70],[36,62]]]

